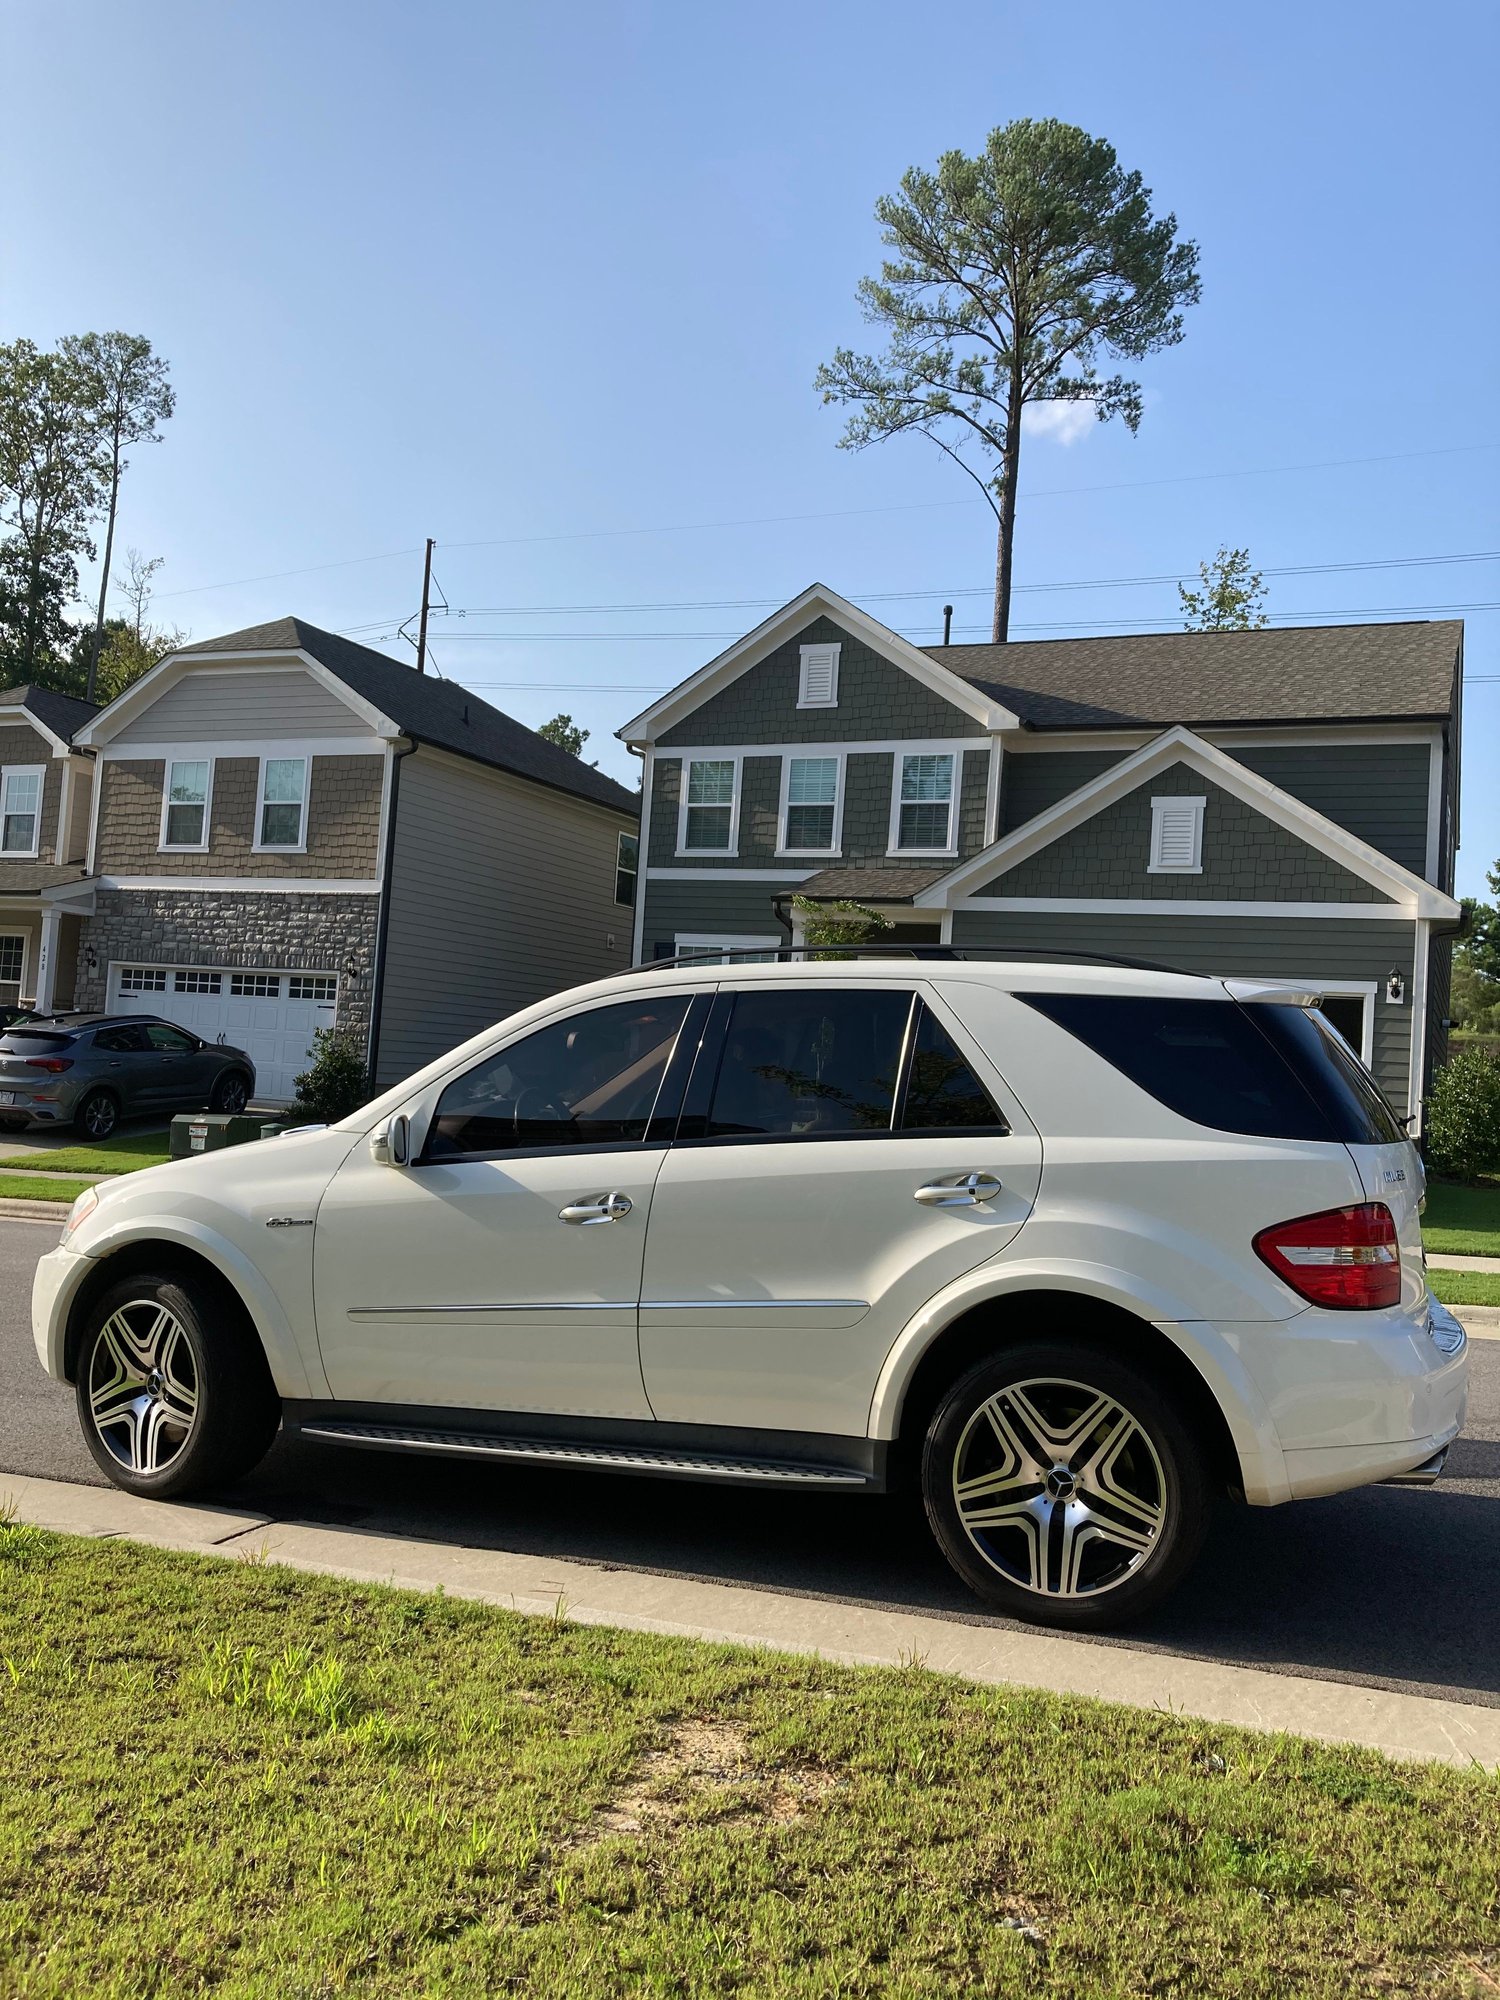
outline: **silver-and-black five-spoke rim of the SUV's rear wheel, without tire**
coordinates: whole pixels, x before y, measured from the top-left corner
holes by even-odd
[[[1136,1574],[1162,1536],[1162,1460],[1136,1416],[1086,1382],[1006,1384],[952,1460],[958,1520],[980,1558],[1046,1598],[1090,1598]]]

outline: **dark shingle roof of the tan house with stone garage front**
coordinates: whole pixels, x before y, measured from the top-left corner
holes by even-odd
[[[572,792],[576,798],[594,800],[598,806],[612,806],[616,812],[636,816],[640,800],[602,770],[584,764],[550,744],[524,722],[502,714],[482,702],[478,694],[454,680],[438,680],[436,674],[418,674],[414,666],[392,660],[386,652],[360,646],[338,632],[324,632],[322,626],[308,624],[306,618],[274,618],[270,624],[246,626],[242,632],[226,632],[222,638],[198,640],[160,660],[152,672],[160,672],[168,662],[190,662],[212,654],[268,654],[294,652],[316,662],[334,676],[350,694],[356,694],[366,710],[378,712],[400,736],[412,742],[432,744],[436,750],[452,750],[456,756],[472,758],[494,770],[508,770],[518,778],[552,786],[554,792]],[[144,682],[136,682],[144,686]],[[126,696],[134,690],[126,690]],[[124,700],[124,696],[122,696]]]

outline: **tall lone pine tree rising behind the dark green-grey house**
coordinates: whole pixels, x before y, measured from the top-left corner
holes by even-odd
[[[884,354],[840,348],[818,370],[824,402],[850,404],[840,444],[920,432],[980,486],[998,522],[994,638],[1010,632],[1022,414],[1032,402],[1092,404],[1140,426],[1138,382],[1100,376],[1182,340],[1198,300],[1198,246],[1114,146],[1056,118],[1018,118],[970,160],[908,168],[876,202],[894,254],[860,280]],[[968,456],[966,456],[968,454]],[[982,470],[970,464],[978,458]]]

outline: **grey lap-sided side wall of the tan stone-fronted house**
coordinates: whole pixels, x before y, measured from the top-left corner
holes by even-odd
[[[378,1082],[624,972],[632,912],[614,900],[614,862],[634,830],[626,814],[436,750],[404,758]]]

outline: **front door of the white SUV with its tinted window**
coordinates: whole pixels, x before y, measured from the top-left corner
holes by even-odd
[[[650,1416],[636,1306],[690,1006],[664,992],[548,1022],[414,1110],[412,1166],[354,1148],[314,1236],[334,1396]]]

